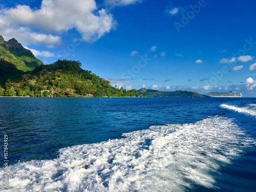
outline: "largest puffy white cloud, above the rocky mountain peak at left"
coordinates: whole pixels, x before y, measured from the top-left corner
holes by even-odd
[[[59,43],[60,39],[51,33],[75,29],[84,41],[95,41],[116,26],[113,16],[104,9],[98,10],[95,0],[42,0],[39,9],[17,5],[15,8],[2,9],[0,20],[4,20],[8,27],[4,29],[0,26],[0,32],[4,35],[8,34],[8,31],[14,34],[23,30],[26,32],[24,37],[29,34],[35,41],[37,37],[38,42],[42,41],[42,37],[38,35],[52,36],[57,40],[55,44]]]

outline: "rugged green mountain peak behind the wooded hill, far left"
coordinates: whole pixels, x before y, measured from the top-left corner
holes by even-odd
[[[17,70],[26,72],[32,71],[35,67],[43,65],[33,53],[25,49],[15,38],[5,41],[0,35],[0,70],[3,68],[3,61],[11,63]]]

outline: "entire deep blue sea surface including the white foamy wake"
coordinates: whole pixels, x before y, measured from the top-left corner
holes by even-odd
[[[0,97],[1,191],[256,191],[256,98]]]

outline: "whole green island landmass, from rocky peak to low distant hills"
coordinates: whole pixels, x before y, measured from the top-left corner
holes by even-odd
[[[37,59],[12,38],[0,35],[0,96],[29,97],[204,97],[196,92],[163,92],[142,88],[125,90],[81,69],[74,60],[57,60],[50,65]]]

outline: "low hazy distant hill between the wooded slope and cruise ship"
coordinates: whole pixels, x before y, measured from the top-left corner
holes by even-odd
[[[197,92],[190,91],[157,91],[142,88],[137,92],[140,96],[153,96],[153,97],[205,97]]]

